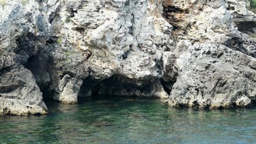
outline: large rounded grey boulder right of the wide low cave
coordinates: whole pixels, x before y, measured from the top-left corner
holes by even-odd
[[[223,45],[195,44],[176,60],[179,76],[169,104],[180,107],[230,108],[255,99],[255,58]],[[239,66],[238,66],[239,65]]]

